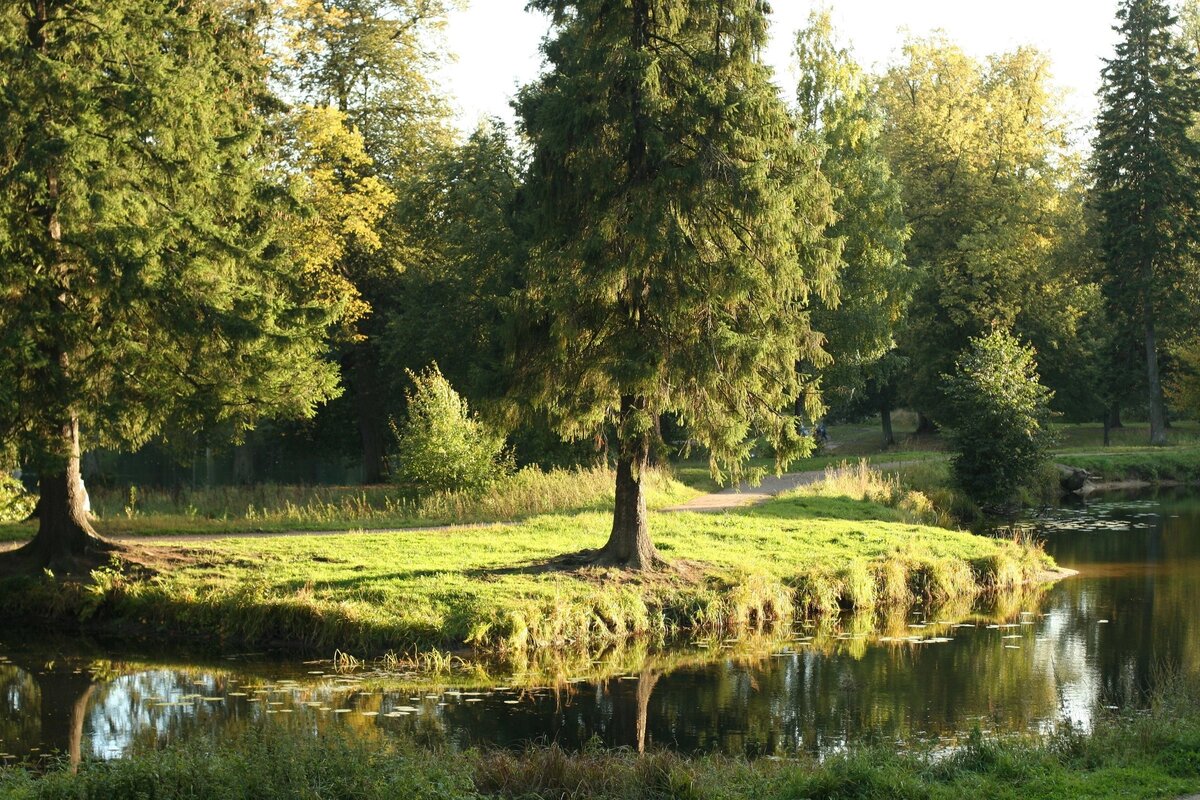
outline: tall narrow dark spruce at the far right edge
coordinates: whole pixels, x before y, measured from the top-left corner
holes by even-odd
[[[1093,148],[1104,291],[1145,348],[1151,444],[1166,444],[1159,349],[1194,302],[1200,74],[1163,0],[1124,0],[1116,56],[1102,72]]]

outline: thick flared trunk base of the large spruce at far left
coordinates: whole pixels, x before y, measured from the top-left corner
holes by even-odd
[[[116,549],[92,530],[79,474],[79,421],[62,426],[65,464],[40,470],[37,535],[13,557],[31,569],[86,572]]]

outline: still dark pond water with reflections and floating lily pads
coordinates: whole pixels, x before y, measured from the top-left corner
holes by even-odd
[[[882,627],[847,619],[768,643],[610,654],[619,668],[584,662],[553,680],[422,685],[254,654],[197,660],[0,632],[0,763],[112,758],[263,722],[461,746],[599,740],[755,757],[863,739],[953,744],[976,727],[1086,727],[1144,705],[1164,674],[1200,672],[1200,497],[1108,497],[1027,524],[1079,577]]]

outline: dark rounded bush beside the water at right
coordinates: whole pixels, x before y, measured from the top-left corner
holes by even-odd
[[[1046,461],[1050,399],[1033,349],[1007,331],[971,339],[955,372],[943,375],[954,482],[984,509],[1009,503]]]

